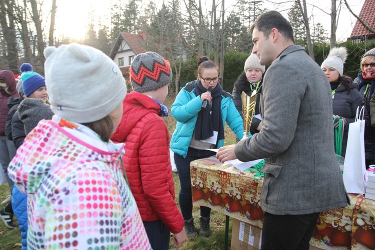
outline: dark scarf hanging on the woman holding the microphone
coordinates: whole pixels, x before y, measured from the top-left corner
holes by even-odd
[[[194,93],[196,96],[201,95],[207,89],[197,79],[194,82]],[[221,117],[221,94],[222,88],[220,82],[217,82],[215,88],[211,91],[212,96],[212,112],[210,113],[209,105],[198,112],[195,122],[195,139],[202,140],[213,135],[213,131],[217,131],[217,140],[224,139],[224,126]],[[216,142],[217,143],[217,142]]]

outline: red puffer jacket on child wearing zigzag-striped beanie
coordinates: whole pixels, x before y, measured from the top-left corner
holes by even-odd
[[[184,221],[174,201],[169,132],[159,111],[149,96],[135,91],[126,94],[121,122],[111,139],[125,142],[122,161],[142,220],[161,219],[177,233]]]

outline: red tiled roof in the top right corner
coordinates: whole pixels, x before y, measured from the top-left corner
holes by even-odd
[[[370,28],[375,29],[375,0],[364,0],[359,18]],[[374,35],[368,31],[358,20],[355,22],[350,37],[358,37],[364,35]]]

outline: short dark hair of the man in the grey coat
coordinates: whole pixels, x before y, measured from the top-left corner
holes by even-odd
[[[278,32],[294,43],[293,28],[288,20],[275,10],[259,15],[251,25],[250,33],[252,33],[255,27],[257,30],[262,31],[265,37],[268,37],[272,28],[277,28]]]

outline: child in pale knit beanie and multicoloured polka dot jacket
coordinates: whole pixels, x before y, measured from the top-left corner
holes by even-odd
[[[29,249],[150,249],[122,177],[124,144],[109,138],[122,114],[125,80],[101,51],[47,47],[45,80],[52,120],[26,136],[9,164],[27,193]]]

